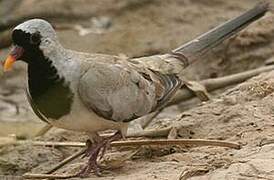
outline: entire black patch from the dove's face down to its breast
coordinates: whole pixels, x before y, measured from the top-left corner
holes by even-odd
[[[37,116],[46,120],[69,114],[73,93],[64,77],[58,75],[52,61],[39,49],[40,32],[30,34],[16,29],[12,40],[24,49],[21,59],[28,64],[28,99]]]

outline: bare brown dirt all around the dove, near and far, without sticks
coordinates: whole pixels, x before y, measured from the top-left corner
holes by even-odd
[[[257,0],[2,0],[0,30],[23,18],[44,17],[70,49],[138,57],[168,52],[200,33],[239,15]],[[21,19],[20,19],[21,18]],[[18,20],[19,19],[19,20]],[[12,26],[12,25],[11,25]],[[1,36],[1,34],[0,34]],[[8,48],[1,49],[4,59]],[[221,77],[263,66],[274,59],[274,15],[268,13],[185,71],[188,79]],[[32,137],[44,124],[25,95],[25,65],[0,69],[0,136]],[[112,169],[90,179],[274,179],[274,72],[211,93],[211,100],[182,102],[164,110],[148,129],[178,127],[178,138],[237,142],[221,147],[144,146],[112,148],[105,162]],[[43,141],[82,141],[84,134],[52,129]],[[1,177],[46,172],[78,148],[1,146]],[[134,152],[134,154],[133,154]],[[58,173],[79,170],[77,159]],[[103,162],[104,163],[104,162]]]

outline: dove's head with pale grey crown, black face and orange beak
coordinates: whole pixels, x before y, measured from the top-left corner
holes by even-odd
[[[26,63],[37,61],[39,57],[49,53],[58,43],[56,32],[45,20],[32,19],[16,26],[12,31],[13,48],[4,61],[4,71],[9,70],[17,60]]]

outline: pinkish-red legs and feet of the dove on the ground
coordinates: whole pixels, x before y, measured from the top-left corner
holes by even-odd
[[[118,139],[122,138],[122,134],[120,131],[116,132],[114,135],[107,137],[107,138],[95,138],[95,141],[93,144],[91,144],[91,141],[87,141],[87,149],[85,153],[85,157],[89,157],[87,165],[78,173],[78,176],[80,177],[86,177],[90,173],[91,170],[94,171],[94,173],[97,176],[100,176],[100,167],[97,163],[98,155],[101,151],[100,159],[104,156],[107,148],[110,146],[111,142],[116,141]]]

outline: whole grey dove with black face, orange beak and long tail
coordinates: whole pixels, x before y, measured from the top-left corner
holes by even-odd
[[[138,58],[66,49],[49,22],[30,19],[13,29],[4,71],[16,61],[27,63],[26,96],[34,113],[55,127],[86,132],[89,159],[79,176],[99,175],[98,159],[125,137],[130,121],[163,108],[183,86],[186,67],[268,9],[259,3],[168,53]],[[99,136],[109,129],[116,133]]]

